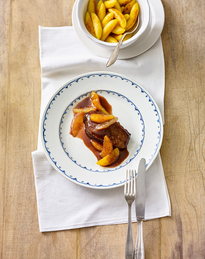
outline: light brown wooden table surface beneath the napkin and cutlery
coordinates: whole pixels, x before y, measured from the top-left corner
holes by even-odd
[[[41,98],[38,25],[72,25],[73,4],[0,1],[2,258],[125,258],[127,224],[39,232],[31,157]],[[204,0],[163,0],[163,6],[160,154],[172,217],[144,222],[145,258],[205,258]],[[136,223],[133,229],[135,236]]]

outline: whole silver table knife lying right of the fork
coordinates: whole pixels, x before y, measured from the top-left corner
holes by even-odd
[[[134,259],[144,259],[144,243],[143,243],[143,221],[145,211],[145,165],[144,158],[140,160],[137,181],[136,181],[136,198],[135,210],[137,218],[137,240],[135,247]]]

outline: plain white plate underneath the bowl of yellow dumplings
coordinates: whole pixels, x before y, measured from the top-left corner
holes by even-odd
[[[144,33],[131,45],[120,49],[118,59],[129,59],[147,51],[159,38],[164,27],[164,8],[161,0],[148,0],[150,5],[150,21]],[[72,25],[80,41],[90,51],[98,56],[108,58],[113,53],[112,49],[107,49],[95,44],[79,28],[76,18],[76,2],[72,9]]]

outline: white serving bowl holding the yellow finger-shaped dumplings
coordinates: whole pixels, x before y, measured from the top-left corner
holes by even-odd
[[[77,10],[76,10],[76,16],[77,21],[80,30],[92,41],[94,41],[97,45],[100,45],[101,47],[109,48],[109,49],[115,49],[117,43],[109,43],[105,41],[98,40],[97,38],[93,37],[92,34],[89,33],[85,26],[85,13],[87,12],[87,5],[89,0],[76,0],[77,1]],[[96,5],[99,0],[95,0]],[[103,0],[104,2],[104,0]],[[149,19],[150,19],[150,7],[147,0],[137,0],[137,3],[139,4],[139,25],[137,30],[134,32],[134,35],[121,43],[120,48],[125,48],[132,44],[136,39],[140,37],[140,35],[146,30]],[[78,35],[79,36],[79,35]]]

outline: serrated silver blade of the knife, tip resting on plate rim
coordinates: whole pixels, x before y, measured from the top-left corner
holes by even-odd
[[[136,218],[144,220],[145,211],[145,165],[146,161],[144,158],[140,160],[137,180],[136,180],[136,197],[135,197],[135,211]]]

